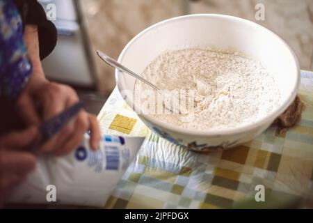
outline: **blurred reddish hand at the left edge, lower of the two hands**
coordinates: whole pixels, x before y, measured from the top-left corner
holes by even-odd
[[[13,188],[35,168],[35,157],[25,150],[37,136],[37,128],[28,128],[0,137],[0,208]]]

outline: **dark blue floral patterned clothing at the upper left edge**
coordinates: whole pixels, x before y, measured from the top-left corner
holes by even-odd
[[[16,98],[31,76],[19,12],[11,0],[0,0],[0,97]]]

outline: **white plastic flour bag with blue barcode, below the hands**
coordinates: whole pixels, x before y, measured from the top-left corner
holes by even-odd
[[[17,187],[10,202],[50,203],[55,198],[54,203],[102,207],[143,140],[104,135],[94,152],[86,134],[81,146],[69,155],[38,157],[35,171]]]

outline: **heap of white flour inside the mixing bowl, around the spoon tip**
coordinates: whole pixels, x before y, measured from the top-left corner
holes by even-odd
[[[182,114],[152,114],[182,128],[234,128],[257,121],[280,104],[278,86],[262,63],[237,52],[211,49],[165,52],[141,76],[159,89],[195,91],[192,118]],[[151,89],[138,80],[136,85]]]

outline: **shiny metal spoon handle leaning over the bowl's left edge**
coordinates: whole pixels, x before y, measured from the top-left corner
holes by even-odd
[[[112,59],[111,57],[107,56],[106,54],[102,53],[101,51],[97,50],[97,54],[98,56],[107,64],[109,64],[109,66],[113,67],[113,68],[117,68],[118,70],[122,71],[122,72],[126,72],[127,74],[135,77],[136,79],[141,80],[142,82],[144,82],[145,84],[148,84],[149,86],[151,86],[153,89],[157,90],[157,92],[161,93],[160,89],[155,86],[154,84],[152,84],[151,82],[148,82],[146,79],[144,79],[143,77],[137,75],[135,72],[129,70],[128,68],[125,68],[125,66],[122,66],[122,64],[118,63],[118,61],[115,61],[114,59]]]

